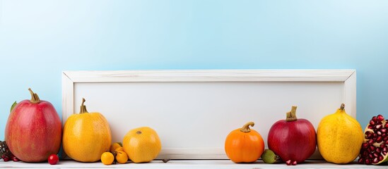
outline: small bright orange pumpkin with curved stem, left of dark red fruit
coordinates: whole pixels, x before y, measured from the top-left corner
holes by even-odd
[[[249,125],[253,127],[254,123],[233,130],[226,137],[225,153],[235,163],[252,163],[264,152],[263,138],[259,132],[249,129]]]

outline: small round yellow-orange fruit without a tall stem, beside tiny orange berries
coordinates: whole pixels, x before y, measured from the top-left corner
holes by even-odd
[[[158,156],[162,144],[151,127],[139,127],[125,134],[122,142],[125,153],[134,163],[150,162]]]

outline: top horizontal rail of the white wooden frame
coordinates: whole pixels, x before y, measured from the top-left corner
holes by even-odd
[[[73,82],[344,82],[355,70],[64,71]]]

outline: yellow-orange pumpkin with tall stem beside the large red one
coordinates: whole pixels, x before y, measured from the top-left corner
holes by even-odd
[[[64,152],[75,161],[100,161],[105,151],[110,151],[112,136],[106,118],[86,111],[82,100],[79,114],[71,115],[64,124],[62,144]]]

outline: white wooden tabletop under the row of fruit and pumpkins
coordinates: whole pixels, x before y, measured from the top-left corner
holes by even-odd
[[[103,165],[96,163],[79,163],[76,161],[59,161],[57,165],[49,163],[24,163],[8,161],[0,162],[0,168],[388,168],[388,165],[360,165],[351,163],[338,165],[325,161],[305,161],[298,165],[286,165],[286,163],[266,164],[263,161],[256,163],[233,163],[229,160],[172,160],[152,161],[151,163],[125,163]]]

